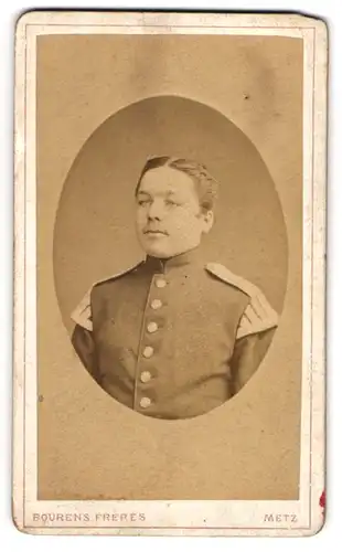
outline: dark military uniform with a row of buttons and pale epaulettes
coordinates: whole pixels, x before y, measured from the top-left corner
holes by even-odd
[[[277,314],[261,291],[200,251],[153,257],[97,283],[72,315],[93,378],[141,414],[186,418],[237,393],[256,371]]]

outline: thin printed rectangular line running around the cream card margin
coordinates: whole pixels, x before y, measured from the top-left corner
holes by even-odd
[[[50,527],[42,527],[42,526],[26,526],[25,524],[25,473],[26,473],[26,450],[25,450],[25,426],[26,426],[26,420],[25,420],[25,415],[26,415],[26,408],[25,408],[25,404],[26,404],[26,340],[25,340],[25,337],[26,337],[26,144],[28,144],[28,140],[26,140],[26,94],[28,94],[28,26],[42,26],[44,25],[44,23],[42,24],[34,24],[34,23],[26,23],[25,25],[25,33],[24,33],[24,40],[25,40],[25,47],[24,47],[24,77],[25,77],[25,84],[24,84],[24,244],[25,244],[25,247],[24,247],[24,267],[23,267],[23,276],[24,276],[24,309],[23,309],[23,316],[24,316],[24,340],[23,340],[23,352],[24,352],[24,363],[23,363],[23,386],[24,386],[24,393],[23,393],[23,399],[24,399],[24,415],[23,415],[23,436],[24,436],[24,443],[23,443],[23,466],[24,466],[24,470],[23,470],[23,529],[43,529],[43,530],[46,530],[46,531],[50,531],[50,530],[54,530],[54,529],[76,529],[76,530],[83,530],[83,529],[108,529],[108,530],[111,530],[111,529],[118,529],[118,530],[121,530],[121,529],[140,529],[140,530],[164,530],[164,529],[170,529],[172,531],[181,531],[181,530],[253,530],[253,531],[288,531],[290,529],[292,530],[310,530],[311,529],[311,514],[312,514],[312,505],[311,505],[311,496],[312,496],[312,354],[311,354],[311,359],[310,359],[310,437],[309,437],[309,446],[310,446],[310,482],[309,482],[309,527],[293,527],[293,528],[279,528],[279,527],[265,527],[265,526],[261,526],[261,527],[205,527],[205,526],[201,526],[201,527],[180,527],[180,526],[177,526],[177,527],[171,527],[171,526],[167,526],[167,527],[160,527],[160,526],[151,526],[151,527],[146,527],[146,526],[110,526],[110,527],[103,527],[103,526],[79,526],[79,527],[72,527],[72,526],[50,526]],[[46,25],[49,26],[75,26],[75,24],[73,23],[63,23],[63,24],[58,24],[58,23],[46,23]],[[121,28],[126,28],[126,26],[139,26],[139,25],[131,25],[131,24],[113,24],[113,25],[108,25],[108,24],[86,24],[86,26],[121,26]],[[142,25],[141,25],[142,26]],[[199,25],[156,25],[156,24],[148,24],[148,26],[156,26],[156,28],[163,28],[163,26],[177,26],[177,28],[196,28]],[[253,29],[255,25],[250,25],[250,26],[226,26],[226,25],[201,25],[201,28],[206,28],[206,29],[211,29],[211,28],[215,28],[215,29]],[[316,26],[260,26],[261,29],[300,29],[300,30],[307,30],[307,29],[311,29],[313,30],[313,75],[312,75],[312,84],[313,84],[313,93],[312,93],[312,135],[313,135],[313,138],[312,138],[312,160],[311,160],[311,163],[312,163],[312,171],[311,171],[311,221],[312,221],[312,229],[311,229],[311,289],[312,289],[312,277],[313,277],[313,229],[314,229],[314,225],[313,225],[313,182],[314,182],[314,93],[316,93],[316,89],[314,89],[314,76],[316,76],[316,72],[314,72],[314,63],[316,63]],[[303,136],[302,136],[303,138]],[[36,139],[36,136],[34,137],[34,139]],[[310,339],[311,339],[311,343],[310,343],[310,351],[312,353],[312,325],[313,325],[313,320],[312,320],[312,309],[313,309],[313,294],[311,291],[311,306],[310,306],[310,310],[311,310],[311,332],[310,332]],[[38,374],[36,374],[38,376]],[[38,413],[36,413],[38,415]],[[96,501],[95,501],[96,502]],[[110,501],[109,501],[110,502]],[[229,502],[229,500],[227,500],[227,502]]]

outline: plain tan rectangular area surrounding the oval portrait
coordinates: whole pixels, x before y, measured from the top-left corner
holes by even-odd
[[[298,497],[301,47],[284,38],[39,38],[39,498]],[[119,108],[159,94],[207,104],[254,141],[289,247],[281,322],[258,373],[222,407],[172,423],[128,411],[90,380],[70,346],[53,274],[56,209],[78,150]]]

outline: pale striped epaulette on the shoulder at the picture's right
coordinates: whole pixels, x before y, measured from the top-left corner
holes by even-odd
[[[250,299],[239,320],[236,339],[259,333],[278,326],[277,312],[257,286],[233,274],[228,268],[218,263],[209,263],[205,268],[216,276],[216,278],[244,291]]]

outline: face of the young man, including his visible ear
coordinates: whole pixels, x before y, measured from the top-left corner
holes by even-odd
[[[145,173],[137,193],[137,234],[146,253],[169,258],[196,247],[210,231],[192,178],[171,167]]]

